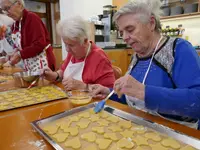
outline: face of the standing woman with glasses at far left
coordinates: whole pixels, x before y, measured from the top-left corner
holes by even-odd
[[[9,0],[5,0],[1,7],[4,13],[13,20],[18,21],[21,19],[23,6],[19,1],[16,0],[11,3]]]

